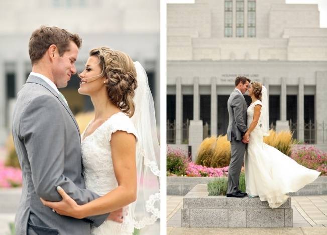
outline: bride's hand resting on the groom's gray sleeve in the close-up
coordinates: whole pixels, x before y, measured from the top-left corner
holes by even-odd
[[[83,218],[81,214],[81,206],[74,201],[63,189],[62,187],[58,186],[57,191],[62,197],[61,201],[53,202],[53,201],[46,201],[41,198],[41,201],[44,205],[52,208],[60,215],[66,215],[74,218]]]

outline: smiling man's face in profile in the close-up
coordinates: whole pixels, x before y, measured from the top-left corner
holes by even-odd
[[[62,56],[57,53],[53,60],[52,75],[54,84],[58,88],[66,87],[71,75],[76,73],[75,61],[78,55],[78,47],[72,41],[69,44],[68,51]]]

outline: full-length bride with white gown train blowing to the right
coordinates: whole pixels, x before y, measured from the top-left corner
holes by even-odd
[[[269,135],[267,89],[259,82],[252,82],[249,95],[252,103],[247,110],[250,140],[244,158],[246,192],[249,197],[259,196],[271,208],[277,208],[286,202],[289,197],[286,193],[313,182],[320,172],[299,165],[263,142],[263,137]]]

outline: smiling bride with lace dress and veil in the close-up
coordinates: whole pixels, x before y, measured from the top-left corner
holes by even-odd
[[[89,55],[78,90],[91,97],[95,113],[81,136],[83,177],[101,197],[77,205],[59,188],[62,201],[43,202],[75,218],[115,211],[122,219],[105,220],[92,234],[130,235],[160,216],[153,98],[146,72],[126,53],[101,47]]]

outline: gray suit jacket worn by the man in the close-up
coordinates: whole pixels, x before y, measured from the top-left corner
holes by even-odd
[[[16,234],[90,234],[108,214],[84,219],[61,216],[44,206],[59,201],[60,185],[77,204],[98,197],[85,189],[80,133],[66,103],[41,78],[29,76],[18,94],[13,136],[23,171],[23,192],[15,218]]]

